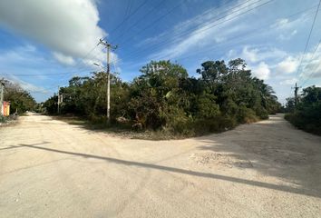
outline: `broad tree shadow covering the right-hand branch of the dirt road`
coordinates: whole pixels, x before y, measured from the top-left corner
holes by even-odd
[[[303,194],[321,197],[321,137],[297,130],[282,115],[273,115],[257,124],[240,125],[223,134],[199,137],[197,141],[204,144],[198,147],[199,154],[227,155],[235,160],[234,163],[248,163],[241,168],[248,166],[259,173],[299,185],[305,190],[301,192]],[[265,185],[262,186],[269,186]],[[296,189],[269,187],[300,193]]]

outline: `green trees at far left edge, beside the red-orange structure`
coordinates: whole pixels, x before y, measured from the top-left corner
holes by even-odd
[[[9,81],[5,81],[4,100],[10,102],[10,114],[24,114],[26,111],[33,111],[37,105],[31,94],[19,84]]]

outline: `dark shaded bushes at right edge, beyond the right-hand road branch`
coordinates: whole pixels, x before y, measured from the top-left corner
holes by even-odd
[[[321,87],[310,86],[303,90],[298,98],[297,108],[295,99],[287,99],[286,119],[308,133],[321,135]]]

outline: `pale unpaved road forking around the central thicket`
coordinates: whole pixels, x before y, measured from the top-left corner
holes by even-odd
[[[0,128],[0,217],[321,217],[321,137],[281,115],[142,141],[31,114]]]

